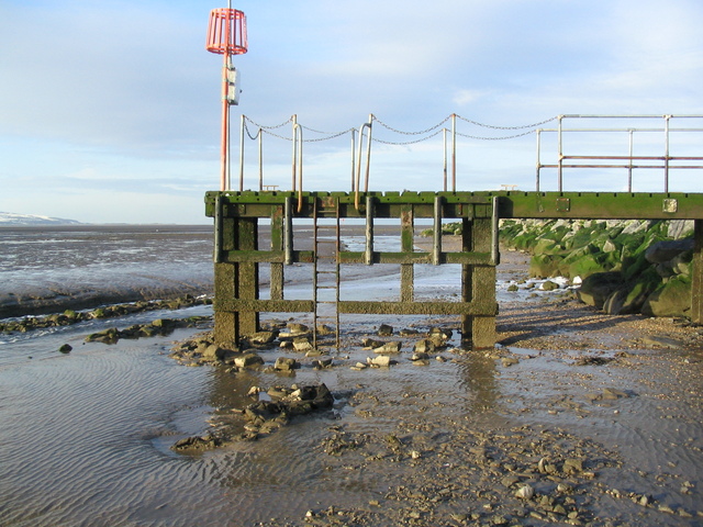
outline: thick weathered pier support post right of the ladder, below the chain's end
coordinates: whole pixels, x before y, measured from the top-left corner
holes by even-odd
[[[492,225],[490,217],[464,218],[461,245],[465,251],[491,253]],[[495,304],[495,267],[461,266],[461,301]],[[498,310],[496,310],[498,311]],[[495,315],[464,315],[462,337],[471,341],[475,349],[492,348],[495,345]]]

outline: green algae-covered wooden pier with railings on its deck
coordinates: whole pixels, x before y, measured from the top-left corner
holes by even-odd
[[[456,116],[454,116],[456,120]],[[674,128],[671,115],[665,115],[661,128],[574,128],[582,133],[626,132],[629,152],[625,156],[567,155],[562,136],[569,128],[534,130],[537,135],[536,190],[518,191],[515,186],[502,186],[498,191],[458,191],[456,160],[448,170],[445,141],[444,190],[426,192],[376,192],[368,190],[371,122],[352,131],[353,178],[349,192],[303,191],[302,130],[292,119],[293,143],[292,180],[290,191],[265,186],[259,167],[259,190],[244,190],[244,168],[241,165],[239,190],[211,191],[205,194],[205,214],[214,221],[215,272],[215,339],[236,346],[241,337],[260,329],[260,313],[311,313],[313,345],[317,346],[321,327],[333,333],[339,346],[341,315],[456,315],[465,341],[473,348],[492,347],[495,341],[495,267],[500,261],[499,235],[501,218],[580,218],[580,220],[693,220],[694,256],[691,295],[691,318],[703,322],[703,193],[671,192],[669,173],[677,169],[703,169],[703,157],[673,156],[669,152],[672,132],[701,132],[695,127]],[[587,116],[598,119],[601,116]],[[615,119],[610,116],[611,119]],[[636,119],[637,116],[635,116]],[[655,119],[655,116],[641,116]],[[682,116],[699,119],[703,116]],[[242,120],[244,138],[245,120]],[[453,124],[453,130],[455,126]],[[634,155],[635,132],[663,133],[665,152],[657,155]],[[252,138],[259,141],[264,128]],[[558,136],[558,160],[544,164],[540,159],[542,135],[554,132]],[[358,146],[355,145],[355,134]],[[456,133],[453,134],[456,136]],[[364,139],[366,137],[366,152]],[[244,139],[242,139],[244,141]],[[453,139],[454,141],[454,139]],[[453,146],[451,150],[455,148]],[[454,156],[454,154],[453,154]],[[242,145],[241,159],[244,157]],[[260,158],[260,156],[259,156]],[[361,190],[362,165],[366,184]],[[544,169],[556,169],[557,191],[543,191]],[[563,190],[565,169],[612,169],[627,171],[627,192],[569,192]],[[633,192],[633,170],[659,169],[663,173],[663,192]],[[447,173],[451,173],[448,190]],[[226,189],[230,188],[227,183]],[[264,190],[267,189],[267,190]],[[271,190],[269,190],[271,189]],[[460,223],[461,249],[448,251],[442,243],[444,221]],[[364,249],[348,250],[344,243],[343,224],[355,222],[364,228]],[[400,229],[400,250],[378,250],[375,232],[380,224],[394,223]],[[434,236],[428,250],[417,250],[417,223],[429,225]],[[260,225],[270,226],[270,243],[263,246]],[[295,226],[312,228],[312,245],[303,247]],[[414,266],[460,266],[460,291],[456,301],[416,301],[414,298]],[[259,287],[259,266],[269,267],[270,284],[266,294]],[[312,288],[303,300],[289,300],[286,294],[286,268],[292,265],[309,267]],[[387,301],[345,300],[343,268],[347,266],[400,266],[399,298]],[[263,298],[266,296],[266,298]]]

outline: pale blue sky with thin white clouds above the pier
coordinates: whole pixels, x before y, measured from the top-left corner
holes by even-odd
[[[203,195],[220,187],[222,58],[204,47],[210,11],[226,7],[0,0],[0,211],[210,223]],[[295,114],[303,188],[320,191],[350,190],[350,132],[327,137],[370,114],[369,189],[383,191],[443,189],[442,128],[453,113],[457,190],[477,191],[535,190],[534,131],[554,128],[557,115],[703,115],[700,0],[234,0],[232,8],[244,11],[248,31],[248,53],[234,57],[235,189],[241,115],[252,135],[287,123],[265,128],[263,173],[265,184],[289,190]],[[670,125],[703,128],[703,119]],[[563,126],[659,130],[663,119]],[[248,134],[244,188],[258,189],[258,146]],[[540,137],[540,161],[556,164],[557,134]],[[702,156],[701,139],[672,132],[671,155]],[[660,156],[663,147],[660,132],[635,134],[635,155]],[[567,155],[627,148],[626,131],[565,135]],[[540,171],[542,190],[556,181],[554,169]],[[573,169],[563,190],[626,183],[625,169]],[[669,188],[703,191],[701,170],[672,171]],[[662,172],[635,171],[633,189],[663,190]]]

